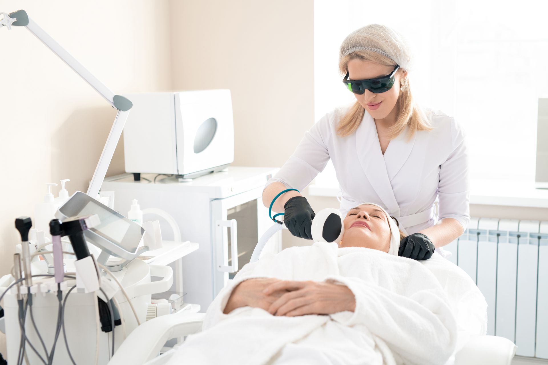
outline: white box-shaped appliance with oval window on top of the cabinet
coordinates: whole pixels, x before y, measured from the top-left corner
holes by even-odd
[[[193,178],[234,161],[230,90],[124,94],[133,113],[124,129],[125,171]]]

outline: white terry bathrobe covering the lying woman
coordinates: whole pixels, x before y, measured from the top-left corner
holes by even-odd
[[[203,332],[187,337],[168,364],[444,364],[458,333],[484,334],[487,312],[464,271],[437,253],[432,258],[418,262],[325,242],[265,254],[221,290]],[[428,263],[444,274],[437,279]],[[223,314],[232,289],[254,277],[346,285],[356,310],[286,317],[246,306]],[[455,321],[459,308],[463,325]]]

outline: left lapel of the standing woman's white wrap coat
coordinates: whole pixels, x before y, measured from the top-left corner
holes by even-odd
[[[380,149],[375,121],[367,112],[356,130],[356,150],[359,163],[369,183],[375,189],[377,195],[379,195],[390,215],[399,217],[399,206],[390,185],[390,178],[386,169],[383,152]]]

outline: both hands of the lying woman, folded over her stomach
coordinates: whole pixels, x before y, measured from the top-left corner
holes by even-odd
[[[233,295],[238,298],[236,308],[249,305],[276,316],[327,315],[356,307],[348,287],[311,280],[250,279],[240,283]]]

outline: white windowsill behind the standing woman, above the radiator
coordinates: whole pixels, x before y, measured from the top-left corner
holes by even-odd
[[[338,187],[309,186],[314,196],[336,196]],[[530,181],[477,179],[472,181],[470,204],[548,208],[548,189],[535,189]]]

